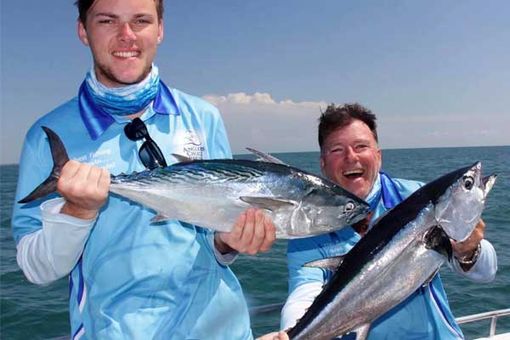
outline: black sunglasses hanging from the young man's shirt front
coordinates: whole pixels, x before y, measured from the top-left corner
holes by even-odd
[[[149,136],[147,126],[140,118],[133,119],[124,127],[126,137],[132,141],[145,140],[140,150],[138,150],[138,157],[142,164],[149,170],[157,167],[166,167],[165,156],[156,142]]]

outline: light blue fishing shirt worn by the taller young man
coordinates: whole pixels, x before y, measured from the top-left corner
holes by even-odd
[[[192,159],[231,158],[218,110],[176,89],[164,86],[163,90],[155,100],[158,106],[147,109],[141,119],[167,162],[177,161],[172,154]],[[93,109],[93,103],[81,104]],[[52,158],[41,126],[61,137],[70,159],[107,168],[114,175],[144,170],[138,157],[143,141],[133,142],[123,131],[128,120],[115,118],[93,139],[86,127],[90,122],[84,122],[79,107],[76,97],[29,130],[16,201],[51,172]],[[15,204],[16,242],[41,229],[40,203]],[[213,232],[176,220],[151,224],[154,216],[153,211],[127,199],[109,196],[70,273],[72,337],[253,338],[241,286],[214,255]]]

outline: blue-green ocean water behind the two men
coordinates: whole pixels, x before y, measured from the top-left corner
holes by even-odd
[[[275,154],[290,165],[319,173],[318,153]],[[249,158],[238,156],[238,158]],[[485,174],[498,180],[487,200],[485,236],[498,253],[498,274],[488,284],[472,283],[443,266],[441,276],[456,317],[510,308],[510,146],[399,149],[383,151],[384,170],[394,177],[430,181],[451,170],[482,161]],[[48,286],[26,281],[16,264],[10,219],[17,166],[0,166],[0,338],[52,339],[69,333],[67,280]],[[281,303],[287,294],[286,242],[265,254],[240,256],[232,268],[250,307]],[[228,316],[225,316],[228,317]],[[276,330],[279,311],[252,316],[255,335]],[[461,326],[468,339],[488,334],[489,321]],[[498,321],[498,333],[510,332],[510,317]]]

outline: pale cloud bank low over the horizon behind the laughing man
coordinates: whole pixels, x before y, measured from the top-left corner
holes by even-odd
[[[318,118],[329,103],[276,101],[271,94],[259,92],[207,95],[204,99],[220,109],[234,153],[245,153],[246,147],[265,152],[318,151]],[[404,114],[391,111],[385,103],[378,105],[370,108],[377,115],[382,148],[510,144],[509,114]]]

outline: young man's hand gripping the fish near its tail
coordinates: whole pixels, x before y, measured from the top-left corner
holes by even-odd
[[[94,218],[105,204],[110,188],[110,173],[77,161],[68,161],[62,168],[57,191],[66,202],[63,214],[82,218]]]

